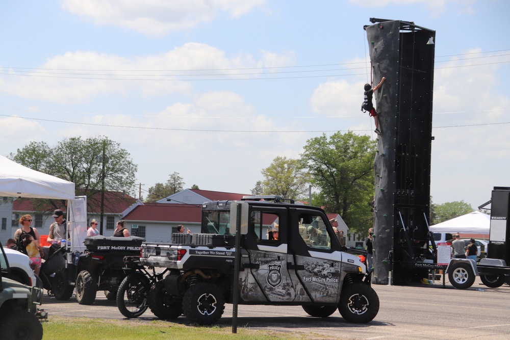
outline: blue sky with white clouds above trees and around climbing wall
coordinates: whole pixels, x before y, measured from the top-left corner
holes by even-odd
[[[307,140],[373,133],[360,111],[369,19],[436,31],[430,189],[473,208],[510,187],[506,0],[0,1],[0,154],[107,136],[138,197],[249,194]]]

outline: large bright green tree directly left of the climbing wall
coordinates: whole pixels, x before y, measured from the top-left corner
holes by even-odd
[[[369,136],[337,132],[307,141],[301,160],[319,189],[312,204],[339,213],[353,231],[364,231],[373,222],[373,160],[375,141]]]

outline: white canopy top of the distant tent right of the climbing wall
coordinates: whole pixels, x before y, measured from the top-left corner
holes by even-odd
[[[490,229],[491,216],[478,211],[430,226],[430,231],[450,233],[489,234]]]

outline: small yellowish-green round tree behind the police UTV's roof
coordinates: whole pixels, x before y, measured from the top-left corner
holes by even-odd
[[[308,174],[299,160],[277,156],[269,167],[262,170],[262,174],[264,195],[295,199],[307,191]]]

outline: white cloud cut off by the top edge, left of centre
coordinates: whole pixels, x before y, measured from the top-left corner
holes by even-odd
[[[60,0],[61,6],[96,25],[113,25],[149,35],[193,28],[219,11],[238,18],[265,0]]]

